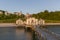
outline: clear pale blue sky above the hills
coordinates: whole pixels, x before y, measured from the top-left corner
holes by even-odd
[[[38,13],[44,10],[60,11],[60,0],[0,0],[0,10]]]

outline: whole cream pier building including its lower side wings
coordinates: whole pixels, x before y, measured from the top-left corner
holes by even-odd
[[[45,21],[43,19],[36,19],[36,18],[33,18],[33,17],[30,17],[30,18],[27,18],[26,21],[22,21],[21,19],[18,19],[16,21],[16,24],[19,24],[19,25],[44,25],[45,24]]]

